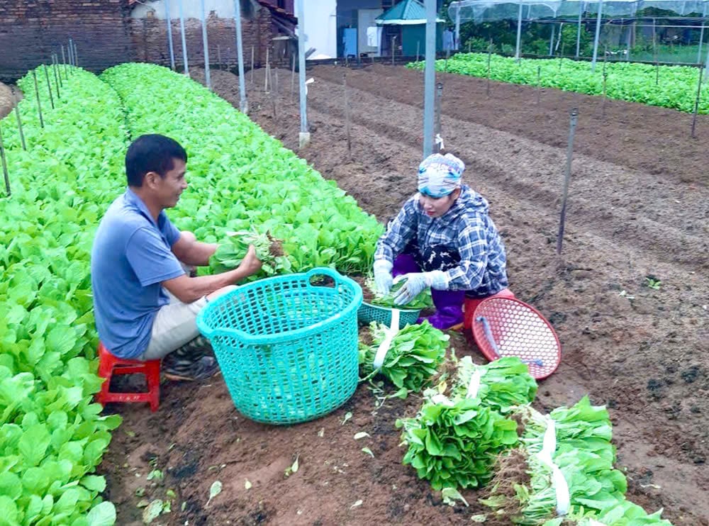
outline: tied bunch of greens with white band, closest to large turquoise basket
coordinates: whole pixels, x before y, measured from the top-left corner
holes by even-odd
[[[379,345],[386,338],[389,328],[372,322],[372,345],[359,346],[359,363],[365,376],[377,371],[384,374],[398,388],[419,392],[430,383],[437,367],[445,359],[450,336],[433,327],[428,320],[415,325],[406,325],[396,332],[379,369],[374,368],[374,358]]]

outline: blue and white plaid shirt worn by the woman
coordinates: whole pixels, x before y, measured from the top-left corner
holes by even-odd
[[[445,272],[447,289],[489,296],[508,285],[505,247],[488,215],[486,199],[467,185],[455,204],[440,218],[430,218],[415,194],[404,203],[386,233],[376,243],[374,259],[393,262],[408,242],[447,245],[457,249],[460,264]]]

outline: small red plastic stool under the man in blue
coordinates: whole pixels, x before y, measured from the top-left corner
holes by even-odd
[[[112,393],[111,376],[114,374],[145,374],[147,393]],[[160,405],[160,360],[129,360],[113,356],[99,343],[99,376],[105,378],[101,391],[96,394],[96,401],[101,405],[108,402],[149,402],[150,410],[155,413]]]

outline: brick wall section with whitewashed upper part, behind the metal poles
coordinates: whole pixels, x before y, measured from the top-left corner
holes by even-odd
[[[133,47],[138,55],[136,60],[169,66],[167,22],[155,17],[147,17],[133,18],[130,23],[133,33]],[[184,26],[189,65],[203,66],[202,22],[197,18],[187,18]],[[272,53],[273,33],[270,11],[260,9],[254,20],[242,19],[241,31],[245,67],[248,69],[251,65],[252,47],[255,65],[265,64],[267,48],[271,48]],[[212,12],[207,18],[207,41],[209,62],[212,67],[218,67],[219,54],[225,67],[235,67],[237,63],[236,30],[233,19],[218,18]],[[175,65],[182,70],[182,35],[179,18],[172,21],[172,45]]]

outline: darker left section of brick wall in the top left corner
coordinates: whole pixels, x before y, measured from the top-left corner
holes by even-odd
[[[61,60],[69,38],[89,69],[135,60],[125,0],[0,0],[0,80]]]

